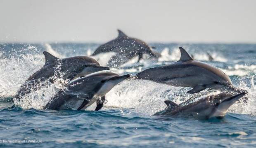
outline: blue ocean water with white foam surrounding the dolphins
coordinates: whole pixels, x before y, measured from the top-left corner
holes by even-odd
[[[224,118],[152,116],[166,107],[164,100],[178,104],[193,94],[191,88],[166,86],[151,81],[123,81],[106,95],[100,111],[95,104],[86,111],[42,110],[59,83],[12,102],[22,83],[45,62],[43,51],[60,58],[91,55],[100,44],[0,44],[0,146],[1,147],[255,147],[256,146],[256,44],[151,43],[161,57],[137,59],[111,68],[117,74],[136,74],[180,58],[184,47],[194,59],[222,69],[233,84],[248,91],[247,102],[232,105]],[[207,54],[213,61],[209,61]],[[106,65],[114,53],[93,58]],[[202,94],[206,91],[203,91]],[[14,104],[18,105],[12,107]]]

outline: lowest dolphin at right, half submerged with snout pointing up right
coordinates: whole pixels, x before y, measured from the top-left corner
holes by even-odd
[[[228,108],[234,104],[239,98],[246,93],[230,95],[228,93],[220,93],[211,95],[196,102],[187,100],[182,104],[176,104],[170,100],[164,101],[167,105],[164,111],[155,113],[156,116],[176,116],[180,114],[194,115],[199,118],[223,117],[228,111]]]

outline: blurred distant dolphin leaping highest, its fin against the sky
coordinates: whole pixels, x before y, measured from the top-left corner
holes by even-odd
[[[152,51],[155,47],[150,47],[140,39],[128,37],[121,30],[118,30],[118,32],[117,38],[99,46],[92,55],[107,52],[116,53],[108,62],[108,66],[111,67],[119,67],[136,56],[139,56],[137,61],[139,62],[144,54],[148,54],[151,58],[158,58],[160,56],[159,53]]]

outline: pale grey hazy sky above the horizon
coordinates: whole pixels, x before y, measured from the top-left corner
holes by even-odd
[[[0,42],[256,43],[256,0],[0,0]]]

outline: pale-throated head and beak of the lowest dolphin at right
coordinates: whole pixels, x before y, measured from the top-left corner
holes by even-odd
[[[208,116],[208,118],[211,117],[222,117],[224,116],[229,107],[234,104],[238,99],[243,97],[246,93],[239,93],[237,95],[227,95],[226,93],[222,93],[220,95],[217,95],[213,98],[213,106],[214,109],[211,113],[211,115]]]

